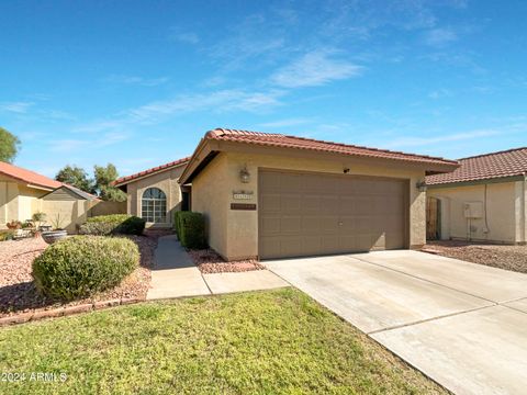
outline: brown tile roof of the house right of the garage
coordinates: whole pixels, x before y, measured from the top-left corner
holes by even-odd
[[[459,159],[461,167],[450,173],[428,176],[429,185],[487,180],[527,173],[527,147]]]

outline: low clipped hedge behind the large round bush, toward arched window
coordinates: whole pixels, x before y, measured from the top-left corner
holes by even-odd
[[[127,214],[99,215],[88,218],[85,224],[80,225],[79,234],[97,236],[142,235],[145,224],[145,219]]]

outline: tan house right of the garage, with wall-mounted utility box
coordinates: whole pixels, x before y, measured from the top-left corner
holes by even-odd
[[[527,147],[459,162],[426,178],[429,237],[525,244]]]

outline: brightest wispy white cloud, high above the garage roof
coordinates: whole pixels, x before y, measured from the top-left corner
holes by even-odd
[[[271,76],[271,82],[285,88],[317,87],[335,80],[357,77],[363,68],[336,59],[325,50],[305,54]]]

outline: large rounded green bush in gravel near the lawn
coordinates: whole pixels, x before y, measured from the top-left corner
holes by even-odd
[[[137,268],[139,250],[122,237],[74,236],[33,261],[33,278],[46,296],[70,301],[119,285]]]

